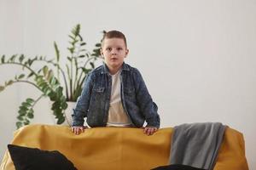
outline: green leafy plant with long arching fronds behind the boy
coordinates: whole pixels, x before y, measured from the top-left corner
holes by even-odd
[[[75,26],[68,37],[69,47],[65,70],[60,64],[62,58],[56,42],[54,42],[55,59],[47,59],[43,56],[27,58],[24,54],[15,54],[9,58],[2,55],[0,65],[19,65],[23,72],[4,82],[0,86],[0,92],[16,82],[26,82],[42,93],[37,99],[27,98],[21,103],[16,127],[30,123],[34,117],[33,107],[43,97],[49,97],[52,101],[51,110],[57,124],[61,124],[65,121],[64,111],[67,109],[67,101],[76,101],[81,94],[85,77],[95,67],[95,61],[101,55],[101,43],[96,43],[92,53],[88,52],[84,48],[86,43],[80,35],[80,25]],[[37,61],[44,63],[38,69],[35,66]]]

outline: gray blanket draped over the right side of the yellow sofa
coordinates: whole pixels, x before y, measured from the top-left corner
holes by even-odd
[[[192,123],[174,127],[170,164],[212,170],[225,131],[222,123]]]

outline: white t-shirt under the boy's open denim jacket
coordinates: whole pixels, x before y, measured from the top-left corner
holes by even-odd
[[[121,101],[120,70],[112,76],[112,89],[108,110],[107,127],[130,127],[131,120],[125,113]]]

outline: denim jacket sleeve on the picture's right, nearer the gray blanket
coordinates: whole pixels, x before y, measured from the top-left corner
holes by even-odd
[[[137,103],[143,116],[145,116],[147,127],[160,127],[160,116],[157,112],[158,107],[148,93],[148,88],[143,77],[137,69],[134,71],[134,80],[136,84]]]

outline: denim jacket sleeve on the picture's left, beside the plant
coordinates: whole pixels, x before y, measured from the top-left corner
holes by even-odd
[[[91,73],[85,78],[83,86],[84,88],[77,100],[77,105],[73,109],[72,126],[84,126],[84,117],[86,117],[88,113],[91,89],[93,86],[93,78]]]

